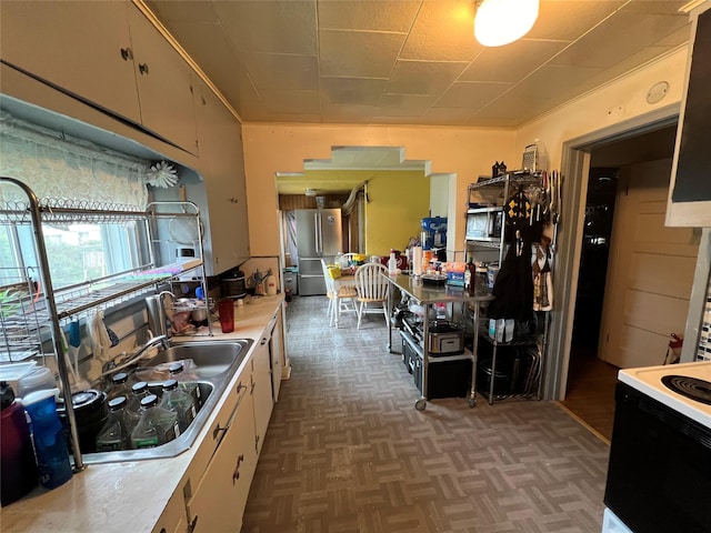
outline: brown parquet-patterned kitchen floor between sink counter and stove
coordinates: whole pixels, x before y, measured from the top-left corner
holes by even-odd
[[[428,402],[382,318],[288,308],[282,383],[243,533],[597,533],[608,445],[555,402]],[[393,346],[399,350],[393,335]]]

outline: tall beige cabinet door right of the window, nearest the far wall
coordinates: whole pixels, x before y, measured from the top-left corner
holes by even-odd
[[[242,130],[218,97],[201,84],[198,103],[200,164],[203,172],[212,273],[249,259],[247,188]]]

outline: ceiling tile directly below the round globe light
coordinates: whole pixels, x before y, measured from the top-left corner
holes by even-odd
[[[460,81],[518,81],[565,47],[562,41],[522,39],[505,47],[484,49]]]

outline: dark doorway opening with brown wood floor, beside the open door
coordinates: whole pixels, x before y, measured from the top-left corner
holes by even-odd
[[[675,123],[668,124],[594,148],[590,152],[578,290],[565,399],[562,403],[607,440],[612,433],[614,384],[619,366],[601,356],[600,335],[604,328],[603,313],[611,305],[610,301],[605,301],[610,299],[609,276],[614,272],[610,266],[614,265],[614,261],[610,260],[611,245],[614,238],[620,239],[619,234],[613,234],[615,217],[624,215],[615,212],[615,204],[620,204],[620,197],[629,194],[629,189],[620,190],[620,187],[630,187],[629,181],[620,184],[620,172],[621,169],[627,172],[649,161],[671,160],[675,129]],[[623,202],[622,205],[623,209],[630,209],[624,208]],[[620,225],[621,221],[617,222]]]

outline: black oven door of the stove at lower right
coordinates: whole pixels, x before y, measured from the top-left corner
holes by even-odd
[[[711,532],[711,429],[619,382],[604,503],[635,533]]]

